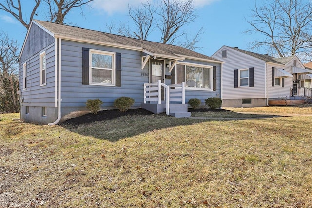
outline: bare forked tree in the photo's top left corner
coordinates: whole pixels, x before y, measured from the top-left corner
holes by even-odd
[[[21,7],[20,0],[17,2],[13,2],[13,0],[6,0],[5,3],[0,2],[0,9],[10,13],[13,17],[15,17],[26,29],[28,30],[30,21],[33,19],[34,15],[36,14],[36,10],[40,5],[41,0],[34,0],[35,6],[30,13],[29,19],[24,20],[23,17],[23,10]]]

